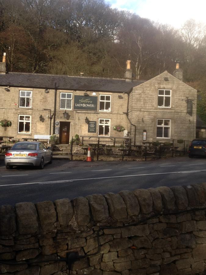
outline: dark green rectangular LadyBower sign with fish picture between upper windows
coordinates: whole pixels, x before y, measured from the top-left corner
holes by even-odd
[[[74,96],[74,110],[97,110],[97,97]]]

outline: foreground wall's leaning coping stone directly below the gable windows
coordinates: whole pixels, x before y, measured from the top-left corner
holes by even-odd
[[[172,190],[166,186],[157,187],[157,190],[161,194],[164,209],[166,210],[175,209],[175,196]]]

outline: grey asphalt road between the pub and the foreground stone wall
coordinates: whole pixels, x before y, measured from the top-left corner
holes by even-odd
[[[206,158],[82,162],[54,160],[44,170],[6,170],[0,162],[0,205],[206,182]]]

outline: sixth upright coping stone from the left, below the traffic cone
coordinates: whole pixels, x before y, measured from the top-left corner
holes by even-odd
[[[86,196],[92,212],[92,218],[96,222],[105,221],[109,218],[107,202],[103,195],[94,194]]]

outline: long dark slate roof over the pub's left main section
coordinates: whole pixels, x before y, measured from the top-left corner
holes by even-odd
[[[0,74],[0,86],[54,89],[55,82],[57,89],[62,90],[89,90],[128,93],[131,88],[138,86],[145,81],[129,82],[125,81],[125,79],[105,79],[15,72],[9,72],[5,75]]]

